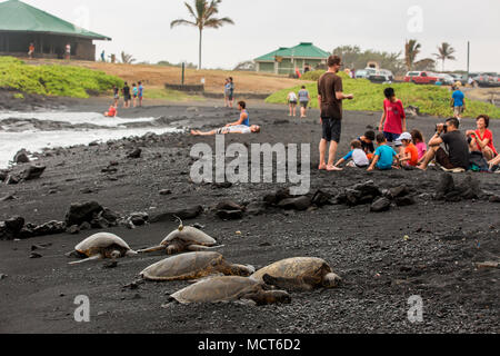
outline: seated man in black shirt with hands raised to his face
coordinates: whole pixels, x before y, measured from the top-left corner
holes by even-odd
[[[459,130],[459,126],[460,122],[457,118],[448,119],[446,126],[438,125],[419,169],[426,170],[433,158],[446,171],[461,172],[469,168],[469,142],[466,135]],[[441,147],[441,144],[446,145],[447,150]]]

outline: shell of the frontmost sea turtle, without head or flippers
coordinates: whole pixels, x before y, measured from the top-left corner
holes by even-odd
[[[232,301],[260,288],[261,284],[251,278],[213,277],[181,289],[172,294],[171,298],[181,304]]]

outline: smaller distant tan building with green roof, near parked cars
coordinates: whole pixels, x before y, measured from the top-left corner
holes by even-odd
[[[326,65],[331,53],[323,51],[311,42],[301,42],[296,47],[281,47],[276,51],[256,58],[257,71],[276,75],[292,75],[296,69],[303,73],[309,67],[314,69]]]

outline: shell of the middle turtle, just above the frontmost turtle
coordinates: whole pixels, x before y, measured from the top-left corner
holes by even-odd
[[[140,275],[149,280],[197,279],[210,276],[223,263],[223,256],[218,253],[188,253],[160,260]]]

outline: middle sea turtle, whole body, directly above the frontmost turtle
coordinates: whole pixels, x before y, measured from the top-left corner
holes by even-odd
[[[142,278],[156,281],[189,280],[213,274],[248,277],[252,266],[232,265],[219,253],[189,253],[166,258],[140,273]]]

